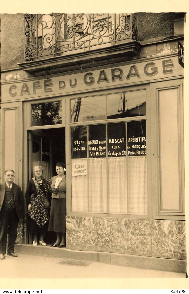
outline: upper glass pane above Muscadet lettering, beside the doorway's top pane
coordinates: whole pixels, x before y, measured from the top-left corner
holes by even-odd
[[[71,123],[106,118],[105,96],[71,99]]]

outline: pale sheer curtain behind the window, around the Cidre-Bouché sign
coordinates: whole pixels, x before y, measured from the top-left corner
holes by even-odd
[[[146,156],[89,158],[87,175],[72,176],[72,210],[147,214],[146,162]]]

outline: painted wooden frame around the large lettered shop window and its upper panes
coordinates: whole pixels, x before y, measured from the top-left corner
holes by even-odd
[[[146,91],[146,116],[136,116],[136,117],[129,117],[129,118],[112,118],[112,119],[105,119],[105,120],[97,120],[97,121],[84,121],[84,122],[70,122],[70,110],[71,110],[71,99],[77,99],[77,98],[85,98],[85,97],[94,97],[99,95],[106,95],[106,94],[114,94],[114,93],[122,93],[122,92],[128,92],[128,91]],[[137,85],[137,86],[124,86],[114,89],[105,89],[101,91],[96,91],[95,93],[83,93],[83,94],[77,94],[74,97],[69,97],[69,100],[66,100],[66,112],[69,114],[69,118],[67,117],[67,122],[69,122],[69,126],[66,126],[67,131],[66,133],[69,134],[69,144],[67,144],[67,158],[69,156],[69,166],[71,167],[71,127],[72,126],[83,126],[83,125],[96,125],[96,124],[108,124],[108,123],[118,123],[118,122],[126,122],[126,121],[139,121],[139,120],[145,120],[146,121],[146,145],[147,145],[147,153],[149,152],[149,127],[150,125],[150,110],[148,109],[150,107],[150,86],[149,83],[143,84],[143,85]],[[147,118],[149,117],[149,118]],[[68,137],[67,137],[68,138]],[[68,146],[69,145],[69,146]],[[152,218],[152,197],[149,197],[149,174],[150,171],[150,161],[149,156],[147,156],[147,195],[148,195],[148,213],[145,215],[137,215],[137,214],[126,214],[126,213],[99,213],[99,212],[75,212],[72,211],[72,196],[71,196],[71,170],[67,172],[67,175],[69,173],[69,190],[68,193],[70,195],[70,200],[67,203],[67,213],[70,216],[99,216],[99,217],[114,217],[114,218],[144,218],[144,219],[151,219]],[[71,168],[70,168],[71,169]]]

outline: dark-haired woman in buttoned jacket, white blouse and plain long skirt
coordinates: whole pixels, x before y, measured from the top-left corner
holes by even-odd
[[[56,232],[56,242],[50,247],[65,247],[66,245],[66,169],[62,162],[56,163],[56,172],[49,180],[49,190],[52,193],[50,219],[48,230]]]

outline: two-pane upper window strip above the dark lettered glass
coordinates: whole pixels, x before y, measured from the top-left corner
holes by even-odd
[[[146,90],[71,99],[70,122],[146,115]]]

